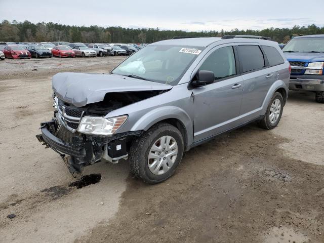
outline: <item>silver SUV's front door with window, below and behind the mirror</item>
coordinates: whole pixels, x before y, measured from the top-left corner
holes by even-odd
[[[216,49],[216,50],[215,50]],[[194,88],[194,142],[229,130],[239,124],[243,79],[234,47],[212,49],[199,63],[199,70],[213,71],[215,82]]]

